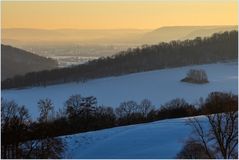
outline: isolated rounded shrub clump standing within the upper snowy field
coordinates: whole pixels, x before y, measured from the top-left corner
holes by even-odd
[[[190,69],[187,76],[181,80],[181,82],[204,84],[208,83],[208,77],[204,70],[202,69]]]

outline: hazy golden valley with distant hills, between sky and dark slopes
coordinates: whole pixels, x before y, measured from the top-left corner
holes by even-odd
[[[3,29],[2,43],[56,59],[60,67],[76,65],[128,48],[172,40],[208,37],[237,26],[172,26],[155,30]],[[80,59],[80,60],[79,60]]]

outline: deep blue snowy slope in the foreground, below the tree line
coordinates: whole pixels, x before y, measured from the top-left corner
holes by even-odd
[[[192,132],[185,122],[171,119],[64,136],[65,158],[175,158]]]

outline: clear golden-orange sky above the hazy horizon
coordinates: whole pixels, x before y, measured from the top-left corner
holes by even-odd
[[[155,29],[237,25],[236,0],[2,2],[2,28]]]

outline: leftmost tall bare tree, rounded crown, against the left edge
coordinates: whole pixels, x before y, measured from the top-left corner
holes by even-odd
[[[1,157],[21,158],[20,147],[31,123],[28,110],[14,101],[1,99]]]

